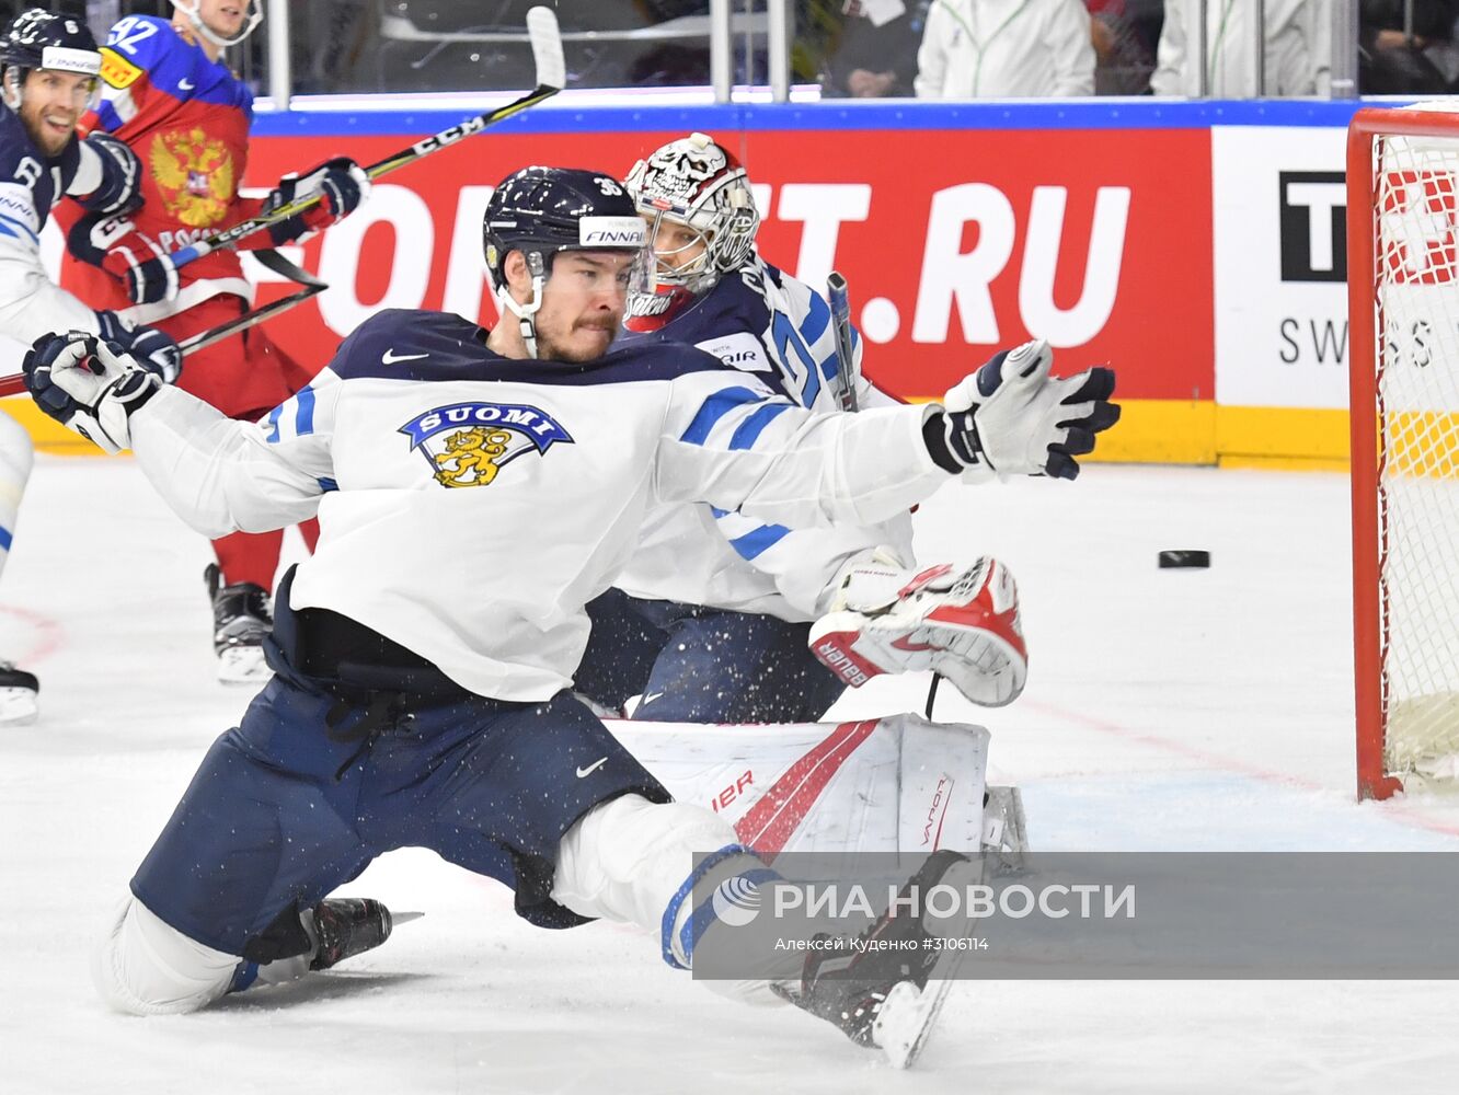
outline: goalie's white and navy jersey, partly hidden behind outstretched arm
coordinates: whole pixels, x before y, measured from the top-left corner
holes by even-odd
[[[808,284],[757,255],[664,328],[623,338],[693,343],[801,407],[840,410],[830,306]],[[862,344],[855,332],[854,347],[858,405],[897,405],[861,376]],[[910,563],[912,522],[906,513],[870,528],[789,529],[721,507],[658,507],[645,521],[639,551],[616,585],[649,601],[805,621],[829,609],[835,592],[829,583],[840,566],[880,545]]]

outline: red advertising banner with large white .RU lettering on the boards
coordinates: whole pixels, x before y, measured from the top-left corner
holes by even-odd
[[[407,140],[413,134],[403,134]],[[490,187],[528,163],[626,175],[683,133],[489,134],[401,169],[309,241],[331,290],[274,321],[324,365],[376,308],[445,308],[492,322],[481,276]],[[1211,400],[1211,150],[1207,130],[779,130],[715,134],[766,211],[760,251],[817,286],[851,281],[865,367],[935,397],[1004,346],[1039,334],[1058,372],[1102,362],[1131,400]],[[391,137],[257,137],[248,182]],[[263,286],[260,300],[282,295]]]

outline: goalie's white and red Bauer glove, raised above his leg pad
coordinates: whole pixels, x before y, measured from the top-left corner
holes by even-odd
[[[1029,677],[1018,589],[995,558],[921,572],[852,563],[810,646],[854,688],[878,674],[932,669],[985,707],[1013,703]]]

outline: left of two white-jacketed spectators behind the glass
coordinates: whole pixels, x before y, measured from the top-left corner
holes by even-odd
[[[919,99],[1094,93],[1080,0],[935,0],[916,61]]]

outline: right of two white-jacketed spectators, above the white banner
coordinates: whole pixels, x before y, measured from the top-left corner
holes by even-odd
[[[1160,32],[1156,74],[1150,79],[1156,95],[1201,93],[1201,71],[1191,64],[1188,50],[1188,28],[1198,10],[1198,0],[1166,0],[1166,25]],[[1258,89],[1249,0],[1207,0],[1207,95],[1326,95],[1332,55],[1331,0],[1266,0],[1265,15],[1265,87]]]

